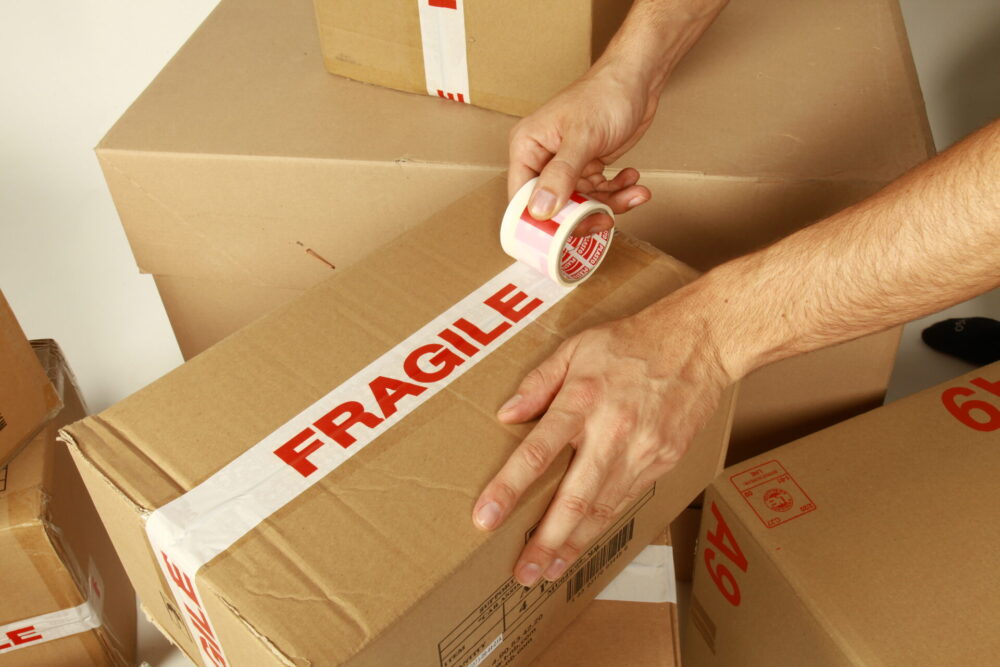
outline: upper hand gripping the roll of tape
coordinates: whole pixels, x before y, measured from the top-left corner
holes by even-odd
[[[539,220],[555,215],[574,190],[603,201],[615,213],[649,201],[649,189],[637,185],[639,172],[623,169],[609,180],[604,167],[635,145],[652,123],[657,102],[657,96],[617,74],[612,65],[595,66],[514,126],[508,196],[538,176],[528,209]],[[594,215],[575,233],[593,234],[612,224],[609,216]]]

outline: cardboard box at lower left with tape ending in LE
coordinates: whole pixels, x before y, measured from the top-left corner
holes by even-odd
[[[56,442],[57,429],[86,409],[56,344],[33,345],[66,405],[0,468],[0,662],[132,665],[135,593]]]

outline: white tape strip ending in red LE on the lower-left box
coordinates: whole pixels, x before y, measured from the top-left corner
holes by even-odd
[[[69,609],[0,625],[0,656],[101,627],[103,599],[103,583],[91,563],[87,601]]]

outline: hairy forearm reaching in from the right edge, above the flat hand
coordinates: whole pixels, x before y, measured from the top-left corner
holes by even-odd
[[[688,296],[736,378],[1000,285],[1000,121]]]

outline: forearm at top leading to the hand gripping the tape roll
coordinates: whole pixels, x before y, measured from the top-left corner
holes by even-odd
[[[670,73],[728,0],[635,0],[622,27],[594,64],[639,81],[659,97]]]

